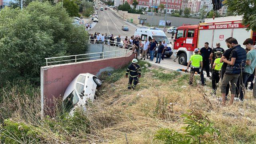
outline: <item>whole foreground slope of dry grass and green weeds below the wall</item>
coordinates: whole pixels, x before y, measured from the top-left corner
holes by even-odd
[[[244,103],[222,107],[209,95],[210,83],[204,88],[188,86],[188,74],[146,68],[142,61],[139,64],[142,77],[136,90],[127,90],[126,68],[102,74],[103,85],[96,100],[88,104],[86,112],[78,110],[74,117],[63,113],[61,102],[56,100],[54,117],[41,119],[39,89],[27,82],[9,84],[9,88],[0,90],[1,142],[256,142],[256,101],[251,92],[246,93]],[[199,132],[193,133],[196,130]]]

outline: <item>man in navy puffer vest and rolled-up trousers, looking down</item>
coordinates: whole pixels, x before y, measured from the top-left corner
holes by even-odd
[[[229,60],[226,58],[223,59],[223,62],[228,64],[226,68],[226,72],[223,76],[222,83],[220,85],[220,90],[222,93],[222,105],[226,105],[226,86],[227,84],[231,84],[231,99],[230,105],[232,105],[234,101],[234,96],[236,94],[236,82],[241,72],[244,72],[244,67],[246,64],[246,51],[240,45],[236,39],[231,38],[228,40],[228,43],[232,47],[233,51],[230,54]]]

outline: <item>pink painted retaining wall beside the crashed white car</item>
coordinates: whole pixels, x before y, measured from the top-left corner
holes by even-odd
[[[43,69],[43,83],[41,82],[41,88],[43,84],[44,102],[47,102],[47,105],[51,107],[50,101],[52,101],[53,97],[62,99],[62,95],[70,82],[80,73],[88,72],[96,75],[100,69],[106,67],[117,69],[126,66],[134,58],[134,54],[129,53],[128,55],[129,56],[119,58],[106,58],[60,64],[52,67],[41,67],[41,69]]]

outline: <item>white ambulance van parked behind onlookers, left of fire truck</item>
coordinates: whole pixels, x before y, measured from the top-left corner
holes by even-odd
[[[146,38],[148,39],[148,41],[150,41],[150,39],[155,39],[157,42],[164,40],[167,44],[167,49],[165,50],[164,55],[166,57],[172,56],[173,47],[170,41],[168,40],[168,38],[166,37],[164,31],[156,27],[150,27],[150,28],[142,27],[135,30],[134,36],[140,37],[141,41],[145,41]]]

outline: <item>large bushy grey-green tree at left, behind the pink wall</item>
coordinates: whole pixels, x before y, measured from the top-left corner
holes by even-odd
[[[30,80],[40,84],[44,58],[83,54],[88,33],[72,25],[62,4],[30,2],[22,11],[0,11],[0,81]]]

